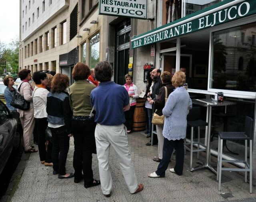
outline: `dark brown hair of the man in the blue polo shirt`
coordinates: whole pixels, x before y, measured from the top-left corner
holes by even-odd
[[[111,65],[108,62],[102,61],[96,65],[94,69],[94,73],[95,73],[95,78],[99,82],[106,82],[111,80],[111,77],[113,75],[113,70]]]

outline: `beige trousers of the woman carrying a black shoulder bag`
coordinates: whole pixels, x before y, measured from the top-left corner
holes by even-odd
[[[35,127],[35,120],[33,106],[30,106],[29,110],[23,111],[23,116],[20,117],[20,122],[23,128],[24,149],[29,150],[34,144],[33,131]]]

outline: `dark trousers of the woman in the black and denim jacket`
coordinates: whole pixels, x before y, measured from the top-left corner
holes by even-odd
[[[53,170],[59,175],[66,175],[66,160],[69,149],[69,137],[66,126],[50,128],[52,132],[52,163]]]

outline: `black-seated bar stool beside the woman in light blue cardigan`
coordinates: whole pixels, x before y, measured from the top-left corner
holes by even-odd
[[[192,162],[193,162],[193,152],[197,152],[197,159],[199,159],[200,151],[206,151],[206,149],[200,149],[200,145],[206,146],[200,143],[200,127],[208,126],[208,123],[200,119],[200,107],[193,107],[187,116],[187,126],[191,127],[191,137],[190,142],[186,142],[184,147],[190,151],[190,171],[193,171]],[[194,139],[194,127],[198,127],[198,140],[196,142],[193,141]],[[197,149],[193,150],[193,146],[197,144]],[[187,145],[190,145],[188,147]]]

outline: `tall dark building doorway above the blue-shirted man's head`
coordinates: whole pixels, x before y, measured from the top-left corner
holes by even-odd
[[[130,19],[116,26],[114,82],[120,85],[125,83],[124,76],[128,73],[131,29]]]

